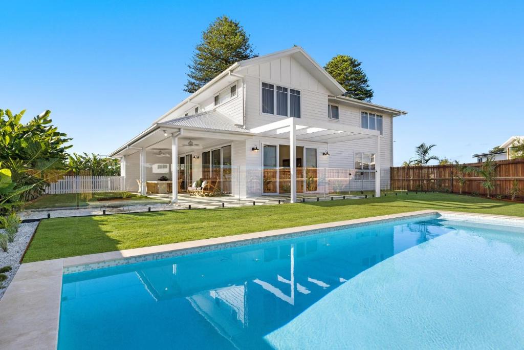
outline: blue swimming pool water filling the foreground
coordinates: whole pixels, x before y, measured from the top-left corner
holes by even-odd
[[[523,234],[418,218],[65,274],[58,347],[523,348]]]

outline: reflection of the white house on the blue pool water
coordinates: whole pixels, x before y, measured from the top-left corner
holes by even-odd
[[[151,298],[185,298],[236,345],[286,324],[359,272],[394,254],[392,228],[179,257],[137,272]],[[246,328],[249,327],[249,334]]]

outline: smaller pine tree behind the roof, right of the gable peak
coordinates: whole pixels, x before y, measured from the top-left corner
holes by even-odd
[[[346,89],[344,96],[361,101],[371,101],[373,90],[369,87],[362,62],[351,56],[338,55],[329,61],[324,69]]]

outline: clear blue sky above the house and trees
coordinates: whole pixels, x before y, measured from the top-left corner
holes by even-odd
[[[187,94],[212,20],[239,20],[260,55],[302,46],[363,62],[395,119],[395,164],[421,142],[471,161],[524,134],[524,2],[0,2],[0,108],[52,111],[73,150],[108,154]],[[26,118],[27,119],[27,118]]]

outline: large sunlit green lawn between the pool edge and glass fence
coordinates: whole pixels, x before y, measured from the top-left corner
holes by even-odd
[[[298,204],[56,218],[40,222],[24,262],[422,209],[524,216],[522,203],[419,193]]]

